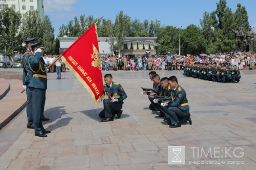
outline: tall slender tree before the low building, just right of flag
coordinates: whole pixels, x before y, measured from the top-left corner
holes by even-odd
[[[131,18],[128,15],[124,15],[123,11],[120,11],[119,14],[115,17],[115,24],[114,24],[114,32],[115,37],[117,40],[117,44],[115,47],[119,50],[123,45],[123,41],[125,41],[125,37],[129,35],[129,29],[131,26]]]

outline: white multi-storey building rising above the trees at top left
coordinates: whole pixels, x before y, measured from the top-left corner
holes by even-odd
[[[44,19],[43,0],[0,0],[0,10],[5,7],[12,7],[15,11],[19,11],[22,18],[26,16],[27,11],[38,10],[39,18]]]

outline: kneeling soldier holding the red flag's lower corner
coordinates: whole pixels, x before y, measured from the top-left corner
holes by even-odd
[[[127,98],[127,95],[123,90],[121,84],[114,83],[112,80],[113,77],[111,74],[106,74],[104,76],[104,81],[106,83],[104,85],[105,94],[109,96],[113,92],[118,92],[121,95],[119,96],[119,98],[111,99],[109,97],[109,99],[103,100],[104,109],[100,112],[100,114],[98,114],[98,116],[100,116],[101,118],[105,118],[104,120],[102,120],[102,122],[113,121],[115,114],[117,114],[116,118],[120,118],[122,114],[121,109],[123,107],[123,100]]]

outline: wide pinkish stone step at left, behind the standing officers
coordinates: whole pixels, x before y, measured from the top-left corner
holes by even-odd
[[[10,91],[0,100],[0,129],[10,122],[26,106],[26,92],[20,94],[22,81],[18,79],[6,80],[10,84]]]

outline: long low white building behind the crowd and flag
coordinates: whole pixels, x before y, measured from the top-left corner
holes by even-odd
[[[78,37],[57,37],[60,41],[60,53],[64,52],[69,46],[75,42]],[[100,49],[101,55],[106,54],[116,54],[120,52],[121,55],[130,55],[130,54],[146,54],[146,50],[150,50],[150,54],[155,55],[156,50],[155,46],[160,44],[156,43],[155,40],[157,37],[126,37],[123,42],[122,48],[120,50],[113,51],[108,42],[109,37],[98,37],[98,48]],[[114,39],[114,44],[117,41]]]

